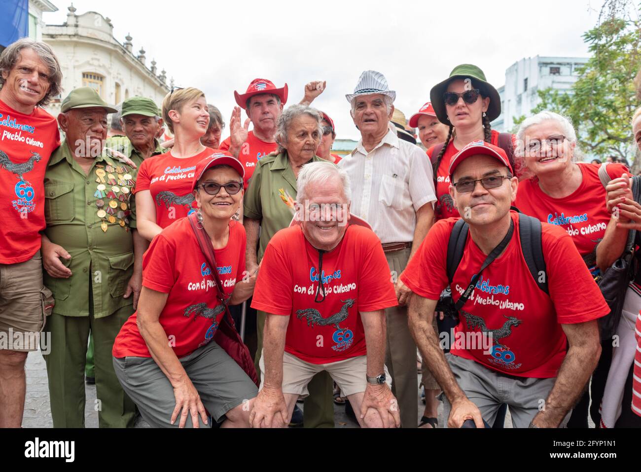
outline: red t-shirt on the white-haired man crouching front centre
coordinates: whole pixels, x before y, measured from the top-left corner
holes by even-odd
[[[380,240],[363,226],[347,226],[338,246],[323,254],[320,275],[326,297],[321,303],[314,302],[318,267],[319,252],[300,226],[280,230],[265,249],[251,307],[291,316],[285,351],[305,362],[326,364],[365,355],[359,312],[397,305]]]

